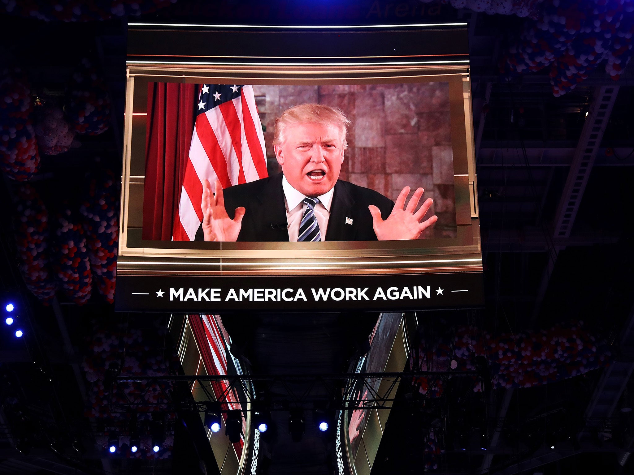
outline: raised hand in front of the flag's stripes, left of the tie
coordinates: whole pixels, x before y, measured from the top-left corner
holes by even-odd
[[[229,241],[238,240],[238,234],[242,229],[242,218],[245,208],[240,206],[235,210],[235,217],[231,219],[224,209],[223,186],[216,180],[216,196],[211,193],[209,180],[202,182],[202,231],[205,241]]]

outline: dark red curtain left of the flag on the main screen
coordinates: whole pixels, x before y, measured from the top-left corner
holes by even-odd
[[[197,84],[148,84],[143,239],[172,239],[194,130],[197,91]]]

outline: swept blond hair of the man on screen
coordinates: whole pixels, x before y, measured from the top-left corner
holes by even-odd
[[[344,132],[344,147],[348,146],[348,127],[352,122],[342,110],[322,104],[302,104],[283,111],[275,120],[273,145],[280,146],[284,142],[284,131],[289,125],[297,124],[333,124]]]

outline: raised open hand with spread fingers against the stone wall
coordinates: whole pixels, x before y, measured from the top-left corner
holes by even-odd
[[[410,202],[405,207],[405,200],[407,195],[410,194],[411,188],[406,186],[401,190],[392,213],[386,220],[381,218],[381,212],[377,206],[370,205],[370,213],[372,213],[372,226],[374,232],[377,234],[379,241],[398,241],[400,239],[418,239],[425,229],[433,225],[438,217],[433,215],[429,219],[421,222],[425,217],[425,214],[429,211],[430,206],[434,203],[434,200],[427,198],[425,202],[416,210],[418,201],[425,192],[424,189],[418,188]]]

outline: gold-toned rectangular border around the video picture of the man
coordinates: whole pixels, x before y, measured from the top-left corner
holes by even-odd
[[[448,82],[451,104],[456,238],[418,241],[253,243],[143,241],[143,183],[149,82],[345,85]],[[474,134],[467,66],[129,65],[119,272],[292,276],[482,270]],[[178,269],[178,270],[177,270]]]

